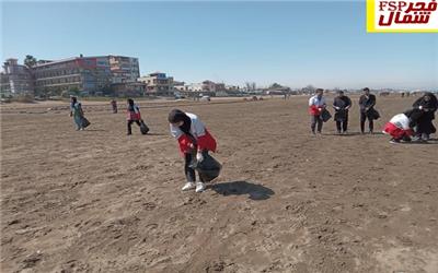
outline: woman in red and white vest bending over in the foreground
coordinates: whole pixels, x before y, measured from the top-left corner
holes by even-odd
[[[206,189],[205,181],[196,182],[195,170],[191,167],[194,161],[201,162],[208,151],[216,152],[216,140],[208,132],[200,119],[189,112],[173,109],[168,118],[172,135],[180,144],[180,151],[184,156],[184,173],[187,182],[182,188],[183,191],[195,189],[201,192]]]

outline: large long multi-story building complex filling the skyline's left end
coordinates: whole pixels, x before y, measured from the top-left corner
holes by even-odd
[[[138,78],[138,59],[130,57],[81,55],[55,61],[39,60],[31,69],[18,64],[15,59],[9,59],[4,63],[1,86],[2,93],[4,90],[4,93],[12,94],[35,92],[36,95],[47,96],[72,90],[101,94],[114,83],[132,83]]]

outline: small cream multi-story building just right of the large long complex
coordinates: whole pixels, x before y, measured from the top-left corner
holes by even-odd
[[[158,96],[173,96],[173,76],[166,76],[165,73],[155,72],[150,73],[139,79],[140,82],[146,83],[147,95]]]

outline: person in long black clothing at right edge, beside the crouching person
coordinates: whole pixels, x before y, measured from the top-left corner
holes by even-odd
[[[437,131],[433,120],[435,119],[435,111],[438,108],[438,99],[433,93],[427,92],[415,100],[413,107],[423,111],[415,131],[416,139],[427,141],[430,134]]]

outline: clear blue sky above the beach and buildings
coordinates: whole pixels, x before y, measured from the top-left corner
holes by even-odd
[[[1,5],[2,60],[113,54],[187,83],[438,88],[438,35],[367,34],[365,1]]]

